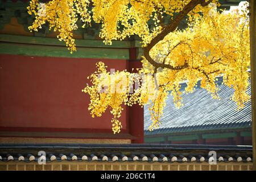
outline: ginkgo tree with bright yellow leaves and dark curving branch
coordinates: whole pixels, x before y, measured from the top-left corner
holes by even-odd
[[[27,9],[35,20],[28,28],[37,31],[48,22],[71,53],[76,51],[72,32],[79,21],[84,23],[82,27],[90,26],[92,20],[101,23],[100,37],[106,44],[138,35],[143,68],[138,73],[110,73],[98,62],[97,71],[89,76],[92,84],[82,91],[90,94],[92,117],[100,117],[110,108],[114,133],[122,128],[118,118],[123,104],[149,104],[153,130],[160,124],[169,93],[177,107],[182,105],[180,82],[184,80],[185,93],[193,92],[200,80],[201,88],[218,98],[215,81],[222,75],[223,84],[234,89],[232,99],[238,109],[250,100],[246,93],[250,77],[247,12],[227,14],[217,10],[219,5],[216,0],[52,0],[45,4],[42,15],[39,1],[31,0]],[[168,23],[163,21],[166,15],[171,17]],[[188,26],[179,30],[184,19]],[[153,27],[148,26],[149,21],[154,22]]]

